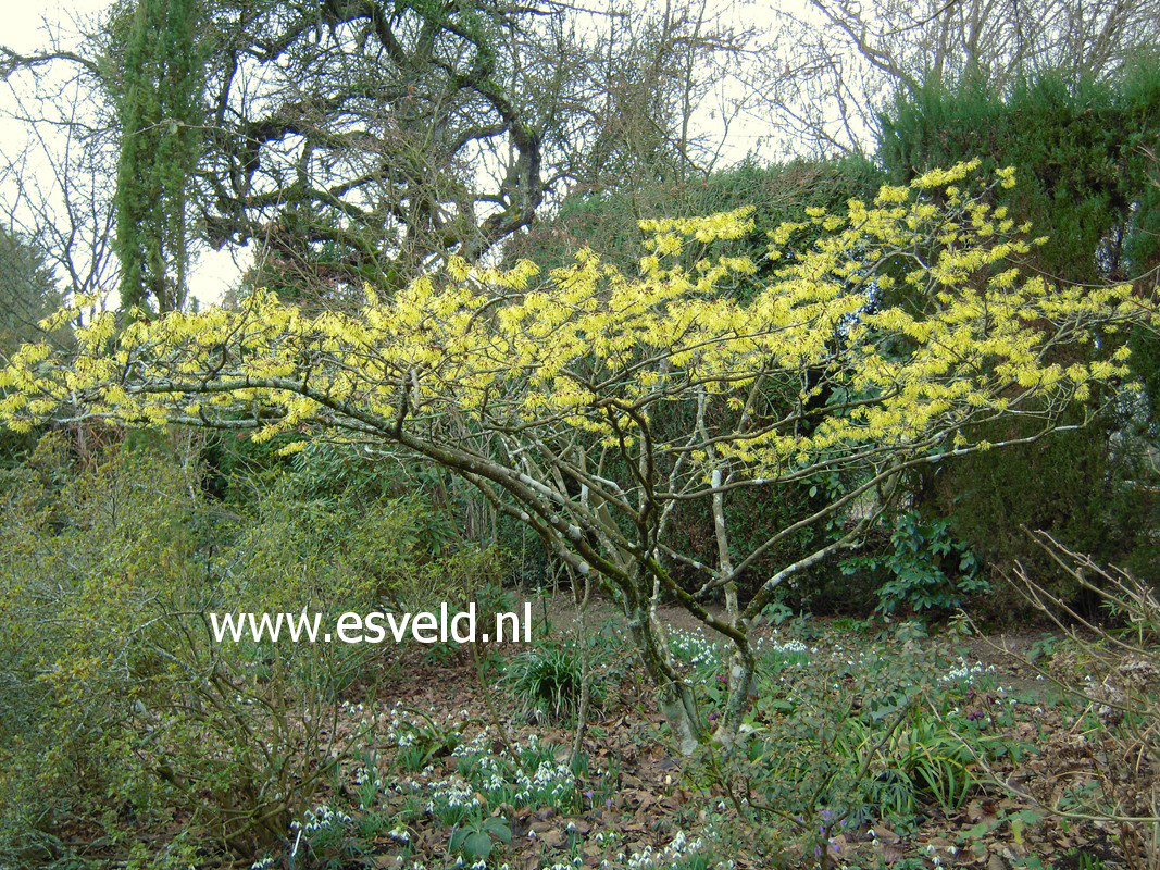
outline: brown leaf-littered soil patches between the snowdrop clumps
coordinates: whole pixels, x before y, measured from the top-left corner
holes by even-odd
[[[567,592],[551,601],[534,602],[534,612],[537,621],[543,619],[546,612],[557,636],[565,636],[579,622],[577,607]],[[662,616],[670,624],[681,628],[699,626],[682,609],[666,608]],[[622,619],[618,611],[603,601],[594,602],[585,616],[586,624],[593,629],[606,621],[621,624]],[[1038,633],[996,635],[967,639],[964,641],[964,655],[995,665],[1008,686],[1044,690],[1046,682],[1036,680],[1036,668],[1025,660],[1041,637]],[[611,828],[622,836],[617,849],[632,851],[645,846],[660,848],[672,839],[675,831],[695,834],[697,820],[704,817],[703,807],[706,802],[717,803],[722,799],[722,795],[711,786],[698,793],[684,784],[687,781],[682,778],[682,760],[665,748],[660,718],[643,680],[626,679],[609,694],[615,703],[594,716],[585,748],[592,759],[593,770],[609,769],[610,762],[615,761],[611,764],[618,770],[615,797],[606,805],[592,806],[571,818],[559,817],[549,807],[495,807],[496,812],[503,812],[512,822],[515,839],[503,860],[513,870],[538,869],[545,854],[550,855],[567,843],[568,831],[587,835],[589,832]],[[531,733],[561,746],[570,745],[572,740],[568,730],[513,719],[510,703],[505,702],[502,694],[496,693],[486,680],[479,679],[476,665],[466,653],[438,665],[427,664],[421,659],[408,660],[401,669],[400,681],[383,687],[380,697],[384,704],[401,702],[406,708],[432,710],[433,717],[443,716],[448,719],[459,716],[459,711],[469,710],[478,718],[463,722],[465,739],[492,725],[505,741],[525,740]],[[1016,791],[1050,802],[1058,797],[1065,783],[1090,778],[1090,771],[1095,767],[1114,767],[1107,762],[1108,747],[1085,739],[1079,728],[1066,722],[1052,706],[1046,705],[1038,711],[1028,709],[1027,716],[1029,718],[1017,724],[1012,737],[1037,742],[1042,752],[1018,764],[996,766],[994,771]],[[454,768],[451,760],[447,760],[445,764],[448,770],[443,771],[444,775]],[[1148,777],[1151,781],[1151,771]],[[927,857],[923,862],[928,868],[942,865],[1003,870],[1023,865],[1037,867],[1034,860],[1038,858],[1043,867],[1054,863],[1060,870],[1071,870],[1080,864],[1079,858],[1070,853],[1081,847],[1089,856],[1101,858],[1109,870],[1129,867],[1124,861],[1132,838],[1125,840],[1117,826],[1090,821],[1068,824],[1050,817],[1039,822],[1029,819],[1030,824],[1025,825],[1012,820],[1015,813],[1031,807],[1032,804],[1028,800],[992,783],[979,788],[972,799],[954,815],[942,817],[936,811],[916,831],[896,834],[884,825],[876,826],[877,844],[871,843],[865,829],[848,832],[843,842],[854,863],[846,865],[893,867],[904,856],[914,856],[915,849],[926,849]],[[741,822],[737,825],[740,826]],[[973,836],[964,841],[962,835],[972,829]],[[421,832],[419,842],[426,842],[434,857],[445,844],[447,835],[447,831],[440,829]],[[862,857],[854,857],[857,855]],[[582,857],[585,867],[599,867],[602,860],[614,856],[588,838]],[[938,857],[940,864],[934,863],[935,857]],[[738,868],[768,867],[763,858],[747,854],[744,848],[739,848],[732,858]],[[862,864],[858,861],[871,863]],[[1027,863],[1028,861],[1032,863]],[[432,865],[430,862],[428,865]],[[440,864],[436,862],[435,865]]]

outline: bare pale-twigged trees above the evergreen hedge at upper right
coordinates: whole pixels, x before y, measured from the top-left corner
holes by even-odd
[[[902,90],[1046,70],[1101,75],[1160,38],[1157,0],[810,0],[778,21],[752,87],[792,151],[864,153]]]

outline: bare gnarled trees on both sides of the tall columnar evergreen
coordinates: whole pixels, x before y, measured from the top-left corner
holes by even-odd
[[[116,280],[110,203],[132,15],[117,6],[79,22],[79,41],[3,51],[37,152],[8,157],[20,191],[9,209],[53,235],[75,292]],[[249,283],[329,303],[365,281],[405,285],[452,253],[487,256],[570,183],[705,171],[713,150],[690,128],[719,79],[705,63],[741,42],[704,0],[657,13],[231,0],[204,7],[193,36],[206,59],[194,249],[252,247]],[[38,187],[46,175],[52,190]]]

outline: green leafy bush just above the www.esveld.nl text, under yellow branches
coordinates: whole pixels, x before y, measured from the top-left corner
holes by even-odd
[[[267,610],[336,615],[351,609],[342,602],[415,610],[477,601],[484,619],[506,609],[498,553],[462,541],[452,512],[426,494],[440,481],[422,470],[403,474],[396,463],[331,444],[290,461],[268,448],[220,445],[213,459],[223,478],[216,490],[244,517],[238,552],[246,560],[219,557],[238,600],[253,601],[254,588]],[[277,589],[264,588],[268,577],[282,578]]]

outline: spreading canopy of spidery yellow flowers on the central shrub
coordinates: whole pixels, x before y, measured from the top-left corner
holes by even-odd
[[[102,314],[77,331],[72,356],[45,345],[15,355],[0,372],[0,420],[27,429],[70,405],[143,425],[248,421],[256,438],[438,441],[466,429],[628,445],[646,435],[655,444],[647,429],[667,403],[724,397],[717,455],[762,477],[835,454],[920,449],[940,434],[962,441],[987,414],[1059,408],[1125,378],[1126,350],[1100,358],[1092,342],[1066,355],[1063,342],[1157,318],[1129,287],[1024,277],[1010,263],[1030,242],[986,204],[985,186],[971,193],[977,168],[934,171],[882,188],[872,205],[851,200],[844,213],[810,210],[782,225],[769,256],[784,264],[744,304],[722,288],[755,280],[748,258],[683,267],[677,255],[690,241],[744,238],[751,209],[643,222],[648,254],[636,274],[585,248],[549,275],[529,261],[454,260],[392,298],[368,288],[346,313],[310,317],[259,290],[233,310],[119,333]],[[992,183],[1013,180],[1002,169]],[[821,237],[785,256],[810,226]],[[820,382],[831,404],[817,425],[763,404],[789,390],[804,405]],[[667,437],[657,447],[675,455],[688,432]]]

